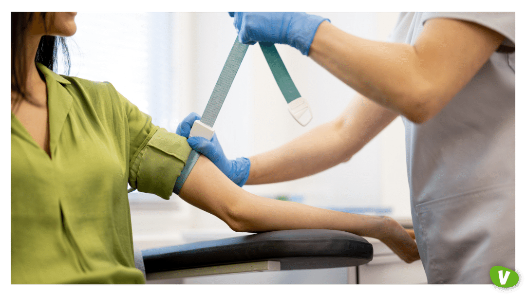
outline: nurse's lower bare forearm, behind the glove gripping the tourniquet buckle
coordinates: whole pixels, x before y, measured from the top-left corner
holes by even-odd
[[[294,180],[348,161],[397,116],[357,94],[335,120],[281,147],[250,157],[246,184]]]

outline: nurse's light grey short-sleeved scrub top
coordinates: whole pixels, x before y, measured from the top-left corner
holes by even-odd
[[[437,116],[424,124],[404,118],[411,212],[428,283],[491,284],[491,267],[515,269],[515,13],[402,13],[391,41],[414,44],[435,17],[505,37]]]

